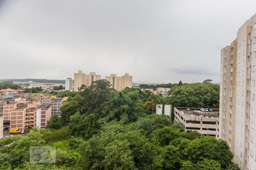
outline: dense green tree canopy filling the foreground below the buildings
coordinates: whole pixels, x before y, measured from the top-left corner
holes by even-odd
[[[171,92],[183,94],[186,86]],[[212,86],[200,88],[217,90]],[[225,141],[184,131],[170,116],[155,114],[159,102],[168,101],[138,88],[115,91],[104,80],[93,82],[69,97],[61,118],[49,122],[51,130],[0,140],[0,169],[239,169]],[[56,162],[30,163],[30,146],[56,147]]]

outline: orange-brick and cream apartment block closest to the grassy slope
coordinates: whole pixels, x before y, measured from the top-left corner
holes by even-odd
[[[52,105],[51,104],[41,104],[35,111],[35,126],[38,128],[46,128],[48,121],[52,116]]]

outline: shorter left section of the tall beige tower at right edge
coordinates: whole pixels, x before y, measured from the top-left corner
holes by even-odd
[[[237,40],[221,50],[221,83],[220,86],[220,138],[228,142],[234,152],[235,138],[235,105],[237,77]]]

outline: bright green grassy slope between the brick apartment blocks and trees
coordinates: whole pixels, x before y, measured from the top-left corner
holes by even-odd
[[[60,128],[58,130],[52,131],[52,133],[49,133],[44,140],[49,145],[53,142],[57,141],[64,141],[68,139],[68,126],[64,126],[63,128]]]

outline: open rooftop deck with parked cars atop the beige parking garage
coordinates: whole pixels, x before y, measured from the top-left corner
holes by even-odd
[[[177,107],[176,109],[178,109],[181,114],[184,114],[187,117],[215,117],[218,118],[219,117],[219,109],[213,109],[213,112],[203,112],[200,111],[200,108],[181,108],[181,107]]]

